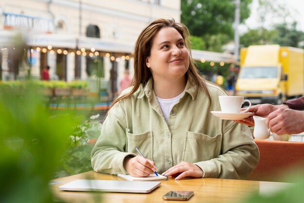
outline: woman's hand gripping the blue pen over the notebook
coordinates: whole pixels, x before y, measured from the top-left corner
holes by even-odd
[[[126,157],[123,166],[134,177],[147,177],[156,171],[155,163],[142,156]]]

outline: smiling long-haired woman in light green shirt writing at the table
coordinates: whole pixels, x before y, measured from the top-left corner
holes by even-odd
[[[112,103],[91,153],[95,171],[246,179],[256,167],[249,128],[210,112],[220,111],[226,93],[200,76],[188,37],[174,19],[156,19],[141,32],[132,86]]]

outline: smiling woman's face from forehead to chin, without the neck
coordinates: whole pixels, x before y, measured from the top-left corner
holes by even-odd
[[[185,77],[189,67],[189,54],[183,37],[175,28],[165,27],[156,33],[146,65],[150,68],[154,81]]]

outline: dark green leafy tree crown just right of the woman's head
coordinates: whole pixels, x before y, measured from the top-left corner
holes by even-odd
[[[252,0],[241,1],[241,21],[250,15]],[[194,36],[226,34],[233,38],[235,4],[232,0],[182,0],[182,22]]]

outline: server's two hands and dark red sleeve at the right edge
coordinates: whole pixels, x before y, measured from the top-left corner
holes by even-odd
[[[251,107],[248,112],[268,117],[271,132],[278,135],[298,134],[304,132],[304,97],[283,102],[282,105],[259,104]],[[236,120],[247,126],[254,126],[252,117]]]

